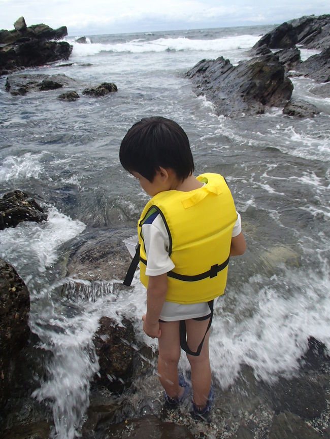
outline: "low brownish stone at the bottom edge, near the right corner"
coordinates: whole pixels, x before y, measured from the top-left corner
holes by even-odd
[[[280,413],[275,417],[269,439],[320,439],[320,435],[299,416]]]

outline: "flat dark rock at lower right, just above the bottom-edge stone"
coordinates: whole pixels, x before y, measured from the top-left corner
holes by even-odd
[[[326,408],[324,389],[305,376],[291,380],[280,378],[272,389],[272,397],[277,414],[288,410],[304,419],[313,419]]]

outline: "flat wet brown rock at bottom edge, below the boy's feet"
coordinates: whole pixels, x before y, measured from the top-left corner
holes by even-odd
[[[141,419],[130,419],[111,426],[107,431],[109,439],[193,439],[193,435],[183,425],[172,422],[162,422],[154,415],[147,415]]]

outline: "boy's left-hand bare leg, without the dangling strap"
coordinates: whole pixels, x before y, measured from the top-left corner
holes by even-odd
[[[184,391],[178,380],[181,354],[179,321],[160,322],[159,328],[161,336],[158,339],[158,377],[170,398],[176,398]]]

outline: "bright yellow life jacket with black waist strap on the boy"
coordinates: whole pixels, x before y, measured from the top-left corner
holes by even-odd
[[[224,293],[230,242],[237,220],[234,200],[220,174],[197,177],[206,184],[189,192],[164,191],[145,206],[138,223],[140,279],[148,286],[147,255],[142,226],[160,214],[169,234],[169,255],[175,268],[168,272],[169,302],[208,302]],[[152,219],[152,218],[151,218]]]

